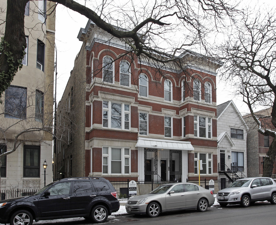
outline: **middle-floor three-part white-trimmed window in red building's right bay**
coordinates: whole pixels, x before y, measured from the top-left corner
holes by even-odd
[[[194,136],[212,138],[212,119],[210,117],[194,116]]]

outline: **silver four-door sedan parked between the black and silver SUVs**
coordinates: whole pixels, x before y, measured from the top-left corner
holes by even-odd
[[[215,197],[210,190],[193,183],[170,183],[155,188],[149,194],[130,198],[126,211],[157,217],[160,212],[184,209],[205,212],[214,202]]]

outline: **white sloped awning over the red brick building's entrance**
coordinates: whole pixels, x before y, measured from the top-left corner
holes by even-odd
[[[190,142],[154,139],[154,138],[138,138],[138,141],[135,147],[161,148],[161,149],[169,149],[169,150],[188,150],[188,151],[194,150],[194,147]]]

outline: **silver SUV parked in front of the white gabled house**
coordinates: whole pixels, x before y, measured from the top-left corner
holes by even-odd
[[[221,206],[241,204],[248,207],[250,203],[266,200],[276,204],[276,184],[272,178],[243,178],[220,190],[216,199]]]

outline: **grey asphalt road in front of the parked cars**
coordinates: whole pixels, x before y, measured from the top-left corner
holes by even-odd
[[[40,221],[39,221],[40,222]],[[34,225],[39,225],[34,222]],[[275,225],[276,224],[276,205],[269,202],[257,202],[253,206],[243,208],[239,205],[228,205],[221,208],[215,206],[208,208],[206,212],[196,210],[185,210],[160,214],[159,217],[149,218],[145,215],[123,215],[108,217],[105,223],[124,225]],[[55,220],[43,222],[43,225],[90,225],[90,221],[82,218],[72,218],[69,221]]]

